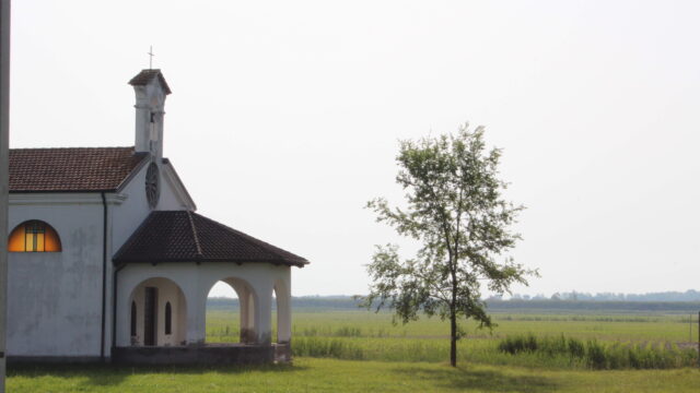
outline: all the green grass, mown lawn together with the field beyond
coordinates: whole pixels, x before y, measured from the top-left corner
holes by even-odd
[[[700,371],[592,370],[562,355],[511,355],[505,337],[567,337],[602,345],[676,350],[697,340],[688,317],[665,313],[499,313],[492,333],[467,326],[459,367],[446,365],[447,325],[440,320],[392,324],[388,313],[296,310],[291,366],[130,368],[14,367],[9,392],[697,392]],[[237,314],[211,310],[208,342],[236,342]],[[692,353],[688,349],[686,354]],[[696,358],[691,359],[695,364]]]

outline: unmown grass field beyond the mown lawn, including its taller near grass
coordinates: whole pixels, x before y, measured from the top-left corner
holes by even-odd
[[[492,332],[467,323],[467,336],[458,342],[459,361],[560,369],[678,368],[697,361],[696,352],[676,348],[676,343],[688,340],[689,326],[684,315],[494,314],[494,320],[498,327]],[[211,311],[207,341],[236,342],[237,326],[237,314]],[[395,325],[386,312],[295,312],[292,330],[294,356],[430,362],[444,361],[450,356],[447,324],[440,319]],[[501,341],[526,333],[541,340],[555,340],[565,333],[569,340],[599,349],[605,360],[594,361],[600,357],[593,356],[592,350],[573,357],[562,352],[499,350]]]

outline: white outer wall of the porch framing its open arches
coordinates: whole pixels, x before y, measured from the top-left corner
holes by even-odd
[[[187,303],[187,343],[203,343],[206,337],[207,296],[219,281],[240,278],[255,291],[255,326],[258,341],[271,335],[272,288],[276,282],[291,288],[291,267],[271,263],[161,263],[129,264],[118,273],[117,346],[130,345],[130,296],[137,286],[152,277],[167,278],[183,291]]]

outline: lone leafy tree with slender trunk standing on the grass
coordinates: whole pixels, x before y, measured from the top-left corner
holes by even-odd
[[[459,128],[456,135],[401,141],[396,181],[406,191],[406,209],[383,198],[368,202],[402,236],[422,243],[413,259],[401,261],[398,247],[376,246],[368,272],[368,308],[395,310],[395,320],[417,320],[421,312],[450,320],[450,364],[457,365],[459,321],[493,326],[480,297],[481,283],[495,293],[527,284],[526,270],[503,253],[521,239],[510,229],[524,207],[503,200],[498,178],[501,151],[486,152],[483,128]],[[499,261],[501,260],[501,261]]]

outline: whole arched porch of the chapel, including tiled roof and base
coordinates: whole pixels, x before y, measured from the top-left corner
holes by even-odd
[[[304,266],[308,263],[305,259],[194,212],[173,211],[152,212],[115,254],[114,262],[117,265],[115,347],[119,359],[267,362],[280,359],[280,355],[289,359],[291,269]],[[207,298],[218,282],[229,284],[238,295],[241,343],[207,345]],[[159,294],[167,290],[165,287],[177,287],[182,301],[170,301],[170,306],[164,302]],[[278,320],[275,340],[273,297]],[[152,315],[155,324],[147,324],[145,315],[154,303],[163,311]],[[131,313],[137,315],[136,324],[130,323]],[[140,314],[144,315],[143,320],[139,320]],[[167,315],[171,315],[170,323],[164,324],[162,319]],[[172,340],[153,336],[153,329],[163,335],[172,330]],[[273,341],[277,344],[272,344]],[[132,342],[153,348],[132,348]],[[160,354],[160,358],[149,354]]]

